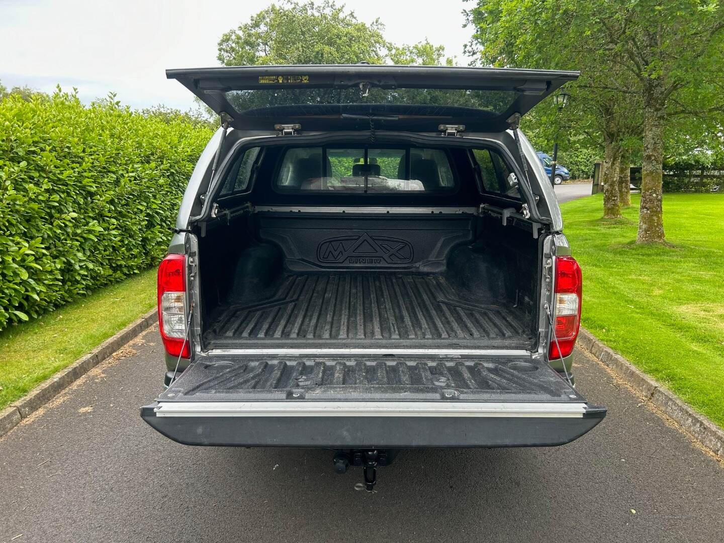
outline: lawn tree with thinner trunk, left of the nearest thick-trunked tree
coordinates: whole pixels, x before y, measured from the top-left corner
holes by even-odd
[[[557,2],[482,0],[467,12],[468,24],[476,31],[466,52],[476,54],[484,64],[581,70],[580,79],[567,86],[572,98],[564,112],[565,124],[569,133],[579,136],[579,144],[584,140],[603,151],[604,216],[618,218],[619,157],[623,141],[637,130],[640,133],[636,107],[640,101],[633,94],[622,99],[620,90],[631,76],[610,68],[610,54],[600,37],[576,27],[580,23],[574,16]],[[551,39],[550,28],[562,30]],[[571,28],[576,31],[565,30]],[[555,125],[545,114],[527,117]]]

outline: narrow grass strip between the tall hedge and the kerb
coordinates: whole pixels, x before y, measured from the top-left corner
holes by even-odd
[[[151,269],[0,332],[0,409],[155,305]]]

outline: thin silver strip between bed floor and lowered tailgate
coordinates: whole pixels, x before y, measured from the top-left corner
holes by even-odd
[[[401,355],[401,356],[504,356],[531,358],[524,349],[408,349],[408,348],[258,348],[258,349],[210,349],[209,356],[271,355],[271,356],[346,356],[346,355]]]

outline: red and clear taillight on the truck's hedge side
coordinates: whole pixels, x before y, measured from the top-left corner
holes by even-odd
[[[186,257],[169,255],[159,266],[159,329],[166,352],[189,358],[186,340]]]

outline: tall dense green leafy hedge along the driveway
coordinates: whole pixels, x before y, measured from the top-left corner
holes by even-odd
[[[0,329],[148,269],[211,130],[75,94],[0,100]]]

